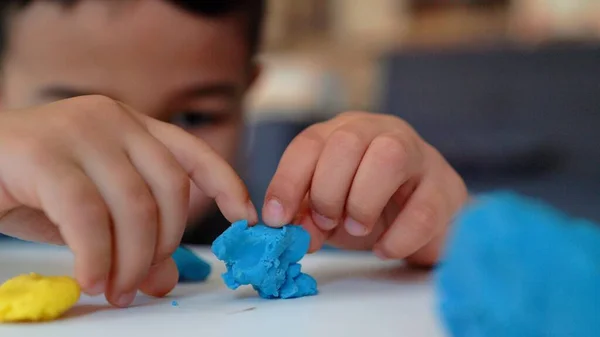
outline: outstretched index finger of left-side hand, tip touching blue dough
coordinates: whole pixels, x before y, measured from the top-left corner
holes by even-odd
[[[227,220],[258,222],[246,186],[225,159],[174,125],[147,119],[146,126],[169,149],[198,188],[215,199]]]

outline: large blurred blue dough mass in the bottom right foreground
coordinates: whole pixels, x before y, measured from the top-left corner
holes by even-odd
[[[455,337],[598,336],[600,227],[491,193],[458,217],[435,283]]]

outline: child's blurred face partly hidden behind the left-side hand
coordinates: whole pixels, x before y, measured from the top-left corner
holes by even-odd
[[[204,139],[230,162],[251,69],[244,23],[201,18],[167,2],[39,1],[14,16],[2,109],[104,94]],[[193,191],[191,216],[209,204]]]

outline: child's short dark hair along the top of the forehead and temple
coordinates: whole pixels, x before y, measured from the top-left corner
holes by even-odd
[[[6,49],[8,21],[11,13],[23,10],[36,1],[49,1],[72,6],[81,0],[0,0],[0,56]],[[254,56],[260,48],[266,0],[163,0],[186,12],[204,16],[220,17],[239,13],[246,20],[248,47]]]

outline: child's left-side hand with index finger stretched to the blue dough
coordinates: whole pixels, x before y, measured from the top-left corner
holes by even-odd
[[[0,232],[67,244],[82,288],[115,305],[177,283],[190,179],[230,221],[256,221],[224,159],[121,103],[86,96],[0,113]]]

